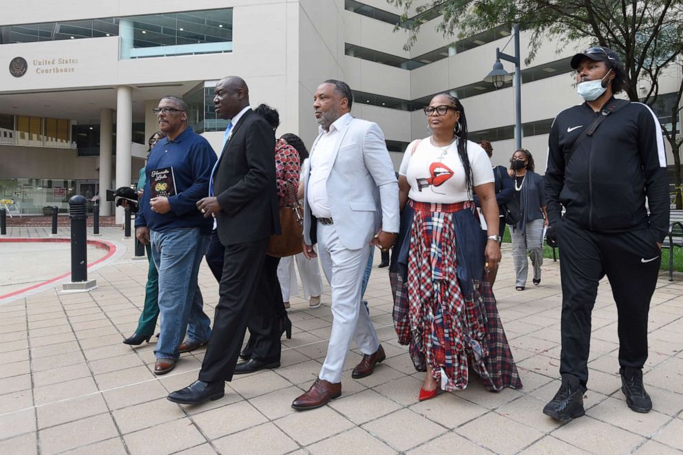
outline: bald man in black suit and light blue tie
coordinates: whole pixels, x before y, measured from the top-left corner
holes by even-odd
[[[275,187],[275,136],[266,120],[249,107],[249,88],[237,76],[216,84],[213,104],[231,119],[227,140],[211,173],[209,197],[197,202],[205,217],[215,216],[225,246],[220,299],[199,379],[168,399],[200,404],[220,399],[233,377],[249,313],[262,318],[270,333],[270,302],[255,301],[269,237],[280,233]],[[253,319],[252,319],[253,320]]]

